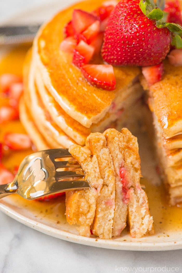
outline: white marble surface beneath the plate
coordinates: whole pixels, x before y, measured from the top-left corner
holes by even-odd
[[[62,2],[66,5],[66,1]],[[0,21],[51,0],[0,0]],[[0,273],[182,272],[182,250],[121,251],[44,235],[0,212]]]

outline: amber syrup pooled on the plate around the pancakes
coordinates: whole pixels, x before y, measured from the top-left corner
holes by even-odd
[[[29,45],[19,46],[2,58],[0,61],[0,75],[3,73],[13,73],[22,77],[23,61],[29,47]],[[5,97],[1,97],[0,106],[3,105],[6,100]],[[19,120],[0,124],[0,142],[2,142],[3,136],[7,132],[26,133]],[[5,152],[2,163],[8,170],[13,171],[14,167],[19,165],[22,159],[29,153],[32,153],[31,149],[23,151],[13,151],[9,149]],[[142,180],[142,184],[145,184],[146,187],[145,191],[148,196],[150,212],[154,219],[156,236],[164,236],[167,238],[172,232],[181,231],[182,207],[172,207],[168,205],[166,193],[162,185],[154,186],[145,177]],[[64,196],[50,201],[27,201],[16,194],[5,198],[12,208],[14,204],[16,204],[16,208],[18,207],[19,211],[21,211],[21,208],[28,210],[34,219],[49,222],[50,226],[57,225],[58,228],[60,222],[65,224],[65,229],[68,227],[65,218]]]

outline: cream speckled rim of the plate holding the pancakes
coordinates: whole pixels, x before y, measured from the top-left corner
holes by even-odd
[[[76,2],[71,0],[71,2]],[[59,1],[60,3],[60,1]],[[58,0],[53,0],[50,3],[47,3],[44,8],[49,8],[50,5],[57,5]],[[19,15],[26,16],[27,14],[34,13],[37,9],[40,9],[41,5],[37,5],[36,7],[32,7],[26,11],[19,11],[17,14],[13,14],[11,18],[6,18],[4,22],[12,22],[13,20],[17,19]],[[0,25],[2,22],[0,22]],[[0,48],[0,50],[2,50]],[[6,202],[5,202],[6,203]],[[5,213],[6,215],[10,216],[14,220],[34,229],[39,232],[42,232],[46,235],[62,239],[69,242],[74,242],[77,244],[92,246],[92,247],[99,247],[99,248],[107,248],[113,250],[129,250],[129,251],[164,251],[164,250],[179,250],[182,249],[182,239],[180,241],[168,241],[168,242],[122,242],[117,241],[117,239],[111,240],[104,240],[99,238],[88,238],[83,237],[74,233],[71,233],[66,230],[60,230],[53,227],[50,227],[40,221],[35,221],[34,219],[30,219],[25,215],[13,210],[8,204],[5,204],[0,200],[0,211]]]

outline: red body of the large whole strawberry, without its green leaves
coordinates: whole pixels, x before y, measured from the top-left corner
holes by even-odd
[[[102,58],[121,66],[152,66],[165,59],[170,49],[168,28],[157,28],[139,7],[139,0],[121,0],[105,30]]]

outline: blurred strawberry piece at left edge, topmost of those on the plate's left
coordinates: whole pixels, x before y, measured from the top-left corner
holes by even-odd
[[[4,73],[0,76],[0,90],[4,93],[8,92],[10,85],[16,82],[22,82],[22,79],[14,74]]]

